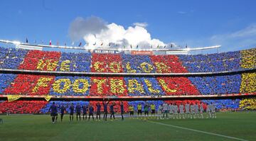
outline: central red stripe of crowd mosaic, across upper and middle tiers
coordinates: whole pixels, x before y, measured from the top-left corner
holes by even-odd
[[[92,54],[91,72],[124,72],[121,55]],[[124,77],[91,77],[90,96],[127,96]]]

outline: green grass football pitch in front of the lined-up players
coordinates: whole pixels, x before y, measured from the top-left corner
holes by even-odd
[[[0,115],[0,140],[256,140],[256,112],[217,113],[215,119],[76,121],[65,115]],[[60,117],[59,117],[60,118]]]

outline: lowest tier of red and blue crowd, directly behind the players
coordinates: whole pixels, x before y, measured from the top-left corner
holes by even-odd
[[[203,100],[203,101],[146,101],[151,104],[154,103],[156,105],[156,110],[158,106],[162,103],[176,103],[179,105],[180,103],[215,103],[217,109],[247,109],[247,110],[256,110],[256,98],[247,98],[247,99],[235,99],[235,100]],[[48,109],[53,101],[0,101],[0,113],[48,113]],[[96,103],[97,101],[55,101],[58,107],[61,105],[65,106],[67,113],[69,113],[69,106],[71,103],[76,106],[80,103],[80,106],[88,106],[89,103],[95,107],[96,111]],[[112,101],[110,102],[112,103]],[[109,103],[109,105],[110,105]],[[114,106],[114,111],[117,113],[120,112],[119,101],[114,101],[116,106]],[[124,101],[124,111],[129,111],[129,105],[134,106],[134,110],[137,111],[137,105],[142,104],[142,111],[144,111],[145,101]],[[103,111],[102,102],[100,101],[101,111]],[[109,106],[108,106],[109,107]],[[204,106],[206,108],[206,105]]]

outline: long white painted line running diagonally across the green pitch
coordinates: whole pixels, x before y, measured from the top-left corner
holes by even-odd
[[[226,137],[226,138],[233,139],[233,140],[247,141],[245,139],[240,139],[238,137],[230,137],[228,135],[220,135],[220,134],[216,134],[216,133],[213,133],[213,132],[206,132],[206,131],[196,130],[196,129],[191,129],[191,128],[183,128],[181,126],[169,125],[169,124],[159,123],[159,122],[154,122],[154,121],[147,121],[147,122],[158,124],[158,125],[165,125],[165,126],[169,126],[169,127],[172,127],[172,128],[179,128],[179,129],[183,129],[183,130],[191,130],[191,131],[194,131],[194,132],[201,132],[201,133],[208,134],[208,135],[215,135],[215,136],[219,136],[219,137]]]

